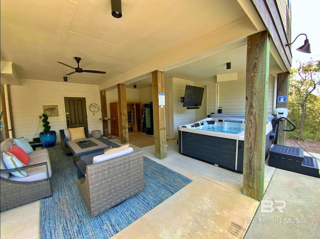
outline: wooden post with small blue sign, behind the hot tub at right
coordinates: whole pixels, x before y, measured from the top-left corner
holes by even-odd
[[[283,72],[278,74],[278,89],[277,96],[286,96],[286,102],[276,102],[276,108],[287,108],[288,107],[288,90],[289,90],[289,73]],[[279,124],[278,136],[277,136],[277,144],[285,145],[285,125],[286,120],[283,120],[282,123]]]

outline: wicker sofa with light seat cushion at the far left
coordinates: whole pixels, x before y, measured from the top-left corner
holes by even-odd
[[[27,166],[15,169],[5,168],[2,162],[3,151],[13,145],[8,138],[1,142],[0,211],[3,212],[52,195],[50,176],[51,166],[47,149],[30,152]],[[10,172],[25,170],[27,177],[15,177]]]

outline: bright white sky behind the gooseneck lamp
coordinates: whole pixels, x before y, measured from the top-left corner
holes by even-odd
[[[305,33],[309,39],[311,54],[295,50],[303,45],[305,36],[299,36],[291,45],[292,68],[296,68],[296,60],[305,62],[311,57],[320,59],[320,0],[291,0],[291,40]]]

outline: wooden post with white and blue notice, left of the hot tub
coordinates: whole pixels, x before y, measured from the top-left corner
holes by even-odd
[[[165,105],[159,105],[159,93],[161,93],[160,101],[161,99],[164,101],[163,71],[155,70],[152,71],[154,149],[155,157],[164,159],[166,157]]]

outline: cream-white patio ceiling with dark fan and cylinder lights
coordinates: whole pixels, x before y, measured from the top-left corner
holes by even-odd
[[[56,61],[76,67],[78,56],[82,69],[106,74],[74,73],[66,83],[100,89],[150,85],[156,69],[194,81],[245,71],[246,36],[257,29],[237,0],[121,3],[114,18],[110,0],[1,0],[1,62],[21,79],[63,82],[74,70]]]

